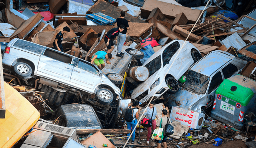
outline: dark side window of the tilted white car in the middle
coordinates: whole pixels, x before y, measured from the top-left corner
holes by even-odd
[[[178,51],[180,48],[180,44],[178,41],[175,41],[174,43],[170,44],[166,49],[163,51],[163,66],[169,63],[172,56]]]

